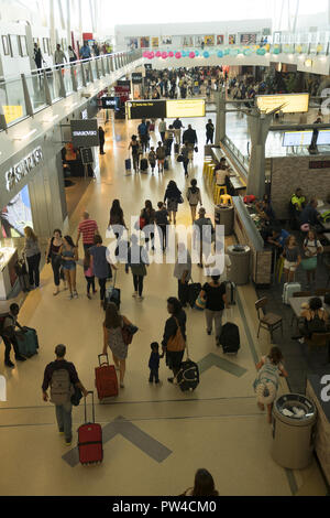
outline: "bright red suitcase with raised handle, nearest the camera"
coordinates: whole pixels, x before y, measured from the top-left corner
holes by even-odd
[[[102,427],[95,422],[94,392],[91,393],[92,422],[87,422],[87,407],[85,398],[85,424],[78,428],[79,461],[85,466],[99,464],[103,460]]]

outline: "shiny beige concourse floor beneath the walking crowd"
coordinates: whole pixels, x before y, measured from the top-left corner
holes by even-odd
[[[185,126],[189,122],[186,120]],[[204,204],[212,216],[213,204],[202,179],[201,142],[206,121],[191,122],[198,129],[200,152],[195,158],[190,177],[198,180]],[[108,126],[107,155],[100,160],[100,175],[81,196],[65,231],[75,237],[81,212],[87,209],[105,236],[114,198],[122,201],[129,219],[130,215],[139,215],[144,199],[150,198],[156,205],[170,179],[185,192],[187,182],[183,168],[174,158],[165,177],[125,174],[128,139],[135,131],[134,122]],[[158,134],[153,141],[157,139]],[[185,226],[190,223],[186,203],[180,207],[177,223]],[[197,267],[194,266],[193,271],[195,282],[205,281]],[[167,384],[168,370],[164,363],[161,365],[163,385],[148,385],[150,344],[154,339],[161,342],[167,319],[166,299],[177,292],[172,265],[150,267],[143,303],[132,299],[131,276],[125,276],[120,267],[122,313],[139,325],[140,332],[130,346],[125,388],[120,390],[116,401],[98,403],[96,408],[97,421],[107,433],[103,464],[72,467],[67,455],[72,450],[69,457],[75,455],[76,430],[82,422],[84,408],[74,410],[74,443],[67,449],[57,434],[54,407],[42,400],[41,384],[45,365],[54,358],[54,346],[65,343],[67,358],[75,363],[81,381],[89,389],[95,387],[94,369],[102,349],[103,314],[98,298],[89,301],[85,295],[81,267],[77,278],[78,300],[69,301],[67,292],[54,298],[51,267],[43,268],[42,288],[28,295],[20,316],[23,324],[37,330],[40,354],[12,371],[0,361],[0,375],[6,376],[8,382],[8,401],[0,403],[0,465],[6,466],[0,473],[1,495],[178,495],[191,486],[199,467],[212,473],[223,496],[298,492],[326,495],[327,488],[315,462],[306,471],[290,472],[272,460],[272,429],[256,407],[252,387],[255,363],[270,349],[266,335],[256,338],[256,294],[252,285],[239,289],[238,305],[224,316],[224,321],[231,320],[240,326],[242,348],[238,357],[224,358],[215,345],[215,337],[206,334],[204,314],[188,310],[191,358],[209,367],[210,364],[206,365],[209,355],[215,355],[220,368],[215,365],[205,370],[198,389],[191,395],[184,395]],[[205,360],[206,357],[209,359]],[[230,363],[224,370],[221,368],[223,360]],[[285,391],[286,382],[280,380],[280,392]],[[119,418],[129,421],[125,429],[116,429],[116,423],[122,424]],[[112,439],[109,439],[110,432]]]

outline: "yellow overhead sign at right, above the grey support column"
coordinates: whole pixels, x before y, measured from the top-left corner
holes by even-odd
[[[282,111],[284,114],[304,114],[308,111],[309,94],[258,96],[256,104],[258,109],[265,114],[270,114],[283,105]]]

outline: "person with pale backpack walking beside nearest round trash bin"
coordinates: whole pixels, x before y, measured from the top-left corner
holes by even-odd
[[[257,377],[253,384],[257,396],[257,406],[265,410],[267,406],[268,423],[272,424],[273,404],[277,396],[279,376],[287,378],[288,374],[283,364],[283,354],[278,347],[273,347],[268,356],[263,356],[256,365]]]

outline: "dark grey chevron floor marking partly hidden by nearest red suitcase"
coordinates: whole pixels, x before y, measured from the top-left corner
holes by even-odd
[[[122,435],[158,463],[164,462],[172,454],[170,450],[121,416],[102,429],[103,444],[111,441],[116,435]],[[78,447],[74,447],[62,458],[69,466],[77,466],[79,464]]]

